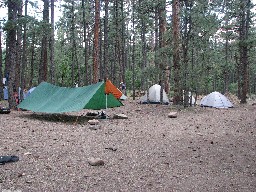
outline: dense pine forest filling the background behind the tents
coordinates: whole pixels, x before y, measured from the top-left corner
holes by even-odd
[[[105,78],[116,86],[124,81],[133,99],[135,90],[159,83],[174,104],[185,106],[183,90],[229,92],[241,103],[256,93],[251,0],[41,3],[43,10],[35,1],[1,2],[8,17],[1,21],[0,79],[8,79],[9,95],[42,81],[84,86]],[[9,104],[16,106],[13,97]]]

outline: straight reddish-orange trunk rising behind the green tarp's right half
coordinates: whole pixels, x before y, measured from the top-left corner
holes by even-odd
[[[99,30],[100,30],[100,2],[95,0],[95,24],[94,24],[94,52],[93,52],[93,83],[98,82],[99,67]]]

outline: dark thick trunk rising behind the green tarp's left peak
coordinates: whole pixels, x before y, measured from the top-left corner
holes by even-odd
[[[39,79],[38,83],[47,81],[48,74],[48,33],[49,33],[49,0],[44,1],[43,10],[43,38],[41,47],[41,61],[39,66]]]

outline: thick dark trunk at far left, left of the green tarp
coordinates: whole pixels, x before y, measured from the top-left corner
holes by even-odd
[[[9,108],[14,109],[17,103],[14,98],[14,92],[17,92],[18,87],[15,87],[15,67],[17,62],[17,39],[16,39],[16,22],[18,3],[15,0],[8,0],[8,23],[13,26],[7,29],[6,37],[6,73],[8,77],[8,102]]]

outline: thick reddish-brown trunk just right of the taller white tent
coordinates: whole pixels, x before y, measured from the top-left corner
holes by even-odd
[[[173,24],[173,67],[174,67],[174,97],[173,104],[180,104],[181,101],[181,87],[180,87],[180,34],[179,34],[179,0],[173,0],[172,4],[172,24]]]

